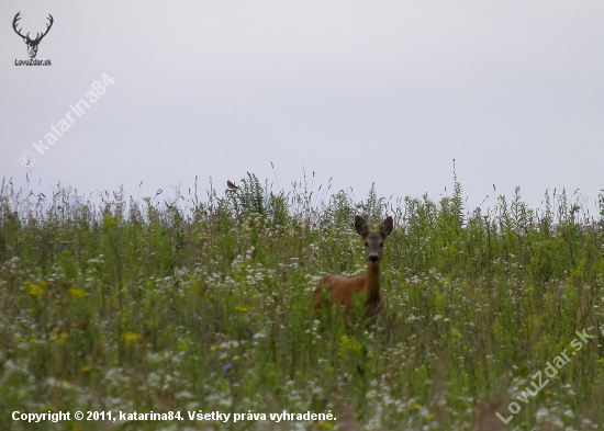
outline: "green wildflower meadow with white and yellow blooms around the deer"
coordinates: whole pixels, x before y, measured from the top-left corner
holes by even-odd
[[[309,181],[141,200],[3,181],[0,429],[602,429],[604,192],[590,216],[563,191],[472,209],[457,179],[437,201]],[[373,325],[312,306],[323,275],[366,269],[356,214],[394,217]]]

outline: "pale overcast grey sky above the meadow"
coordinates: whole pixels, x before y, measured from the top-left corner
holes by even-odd
[[[36,59],[13,32],[54,24]],[[604,2],[5,1],[0,177],[153,195],[254,172],[438,199],[604,188]],[[104,94],[41,155],[92,82]],[[24,151],[35,156],[25,168]],[[144,181],[141,192],[138,184]]]

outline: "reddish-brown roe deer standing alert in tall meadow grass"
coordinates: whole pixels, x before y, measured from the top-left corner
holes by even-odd
[[[314,309],[323,305],[323,288],[327,286],[328,296],[335,303],[344,305],[347,316],[354,316],[355,305],[353,295],[366,296],[365,318],[374,318],[380,310],[380,261],[382,259],[383,242],[392,232],[392,217],[387,217],[380,225],[379,232],[370,232],[367,223],[361,216],[355,216],[355,229],[365,241],[365,259],[367,259],[367,274],[348,279],[344,275],[327,275],[321,280],[321,285],[313,295]]]

